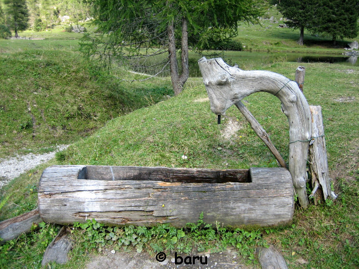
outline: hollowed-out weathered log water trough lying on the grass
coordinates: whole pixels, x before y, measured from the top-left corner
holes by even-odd
[[[38,208],[46,222],[94,218],[108,225],[171,223],[288,224],[293,185],[285,168],[210,170],[54,165],[40,179]]]

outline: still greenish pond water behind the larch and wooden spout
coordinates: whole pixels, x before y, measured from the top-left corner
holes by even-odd
[[[300,53],[277,53],[277,52],[250,52],[250,51],[226,51],[220,54],[210,54],[210,55],[200,55],[195,53],[190,53],[189,55],[189,69],[190,77],[201,77],[201,72],[197,64],[197,60],[205,56],[207,59],[221,57],[224,61],[230,65],[237,65],[243,70],[260,70],[261,66],[270,65],[275,62],[283,61],[292,61],[298,63],[298,65],[304,65],[305,63],[329,63],[329,64],[341,64],[347,66],[359,66],[359,61],[357,57],[354,56],[345,56],[345,55],[323,55],[323,54],[300,54]],[[140,73],[147,73],[154,75],[162,70],[163,66],[156,66],[155,63],[159,61],[166,60],[165,56],[158,56],[150,59],[147,58],[145,63],[142,63],[144,66],[155,66],[152,70],[148,68],[134,68],[134,71]],[[178,64],[180,67],[181,64]],[[169,67],[168,70],[161,73],[160,76],[169,76]]]

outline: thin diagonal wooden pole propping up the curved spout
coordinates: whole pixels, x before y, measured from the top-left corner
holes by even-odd
[[[252,113],[250,113],[248,108],[245,105],[243,105],[241,101],[236,102],[234,105],[241,111],[243,116],[245,116],[245,118],[249,121],[254,132],[257,134],[257,136],[259,136],[262,139],[262,141],[266,144],[268,149],[273,153],[274,157],[277,159],[281,167],[287,168],[287,164],[283,159],[282,155],[275,148],[267,132],[263,129],[261,124],[256,120],[256,118],[252,115]]]

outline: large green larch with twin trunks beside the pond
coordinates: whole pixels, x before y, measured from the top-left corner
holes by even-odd
[[[254,23],[260,0],[89,0],[102,37],[87,34],[82,50],[103,63],[168,54],[155,64],[169,67],[174,94],[189,77],[188,51],[223,43],[237,33],[238,21]],[[181,63],[177,63],[180,51]],[[158,72],[158,73],[159,73]]]

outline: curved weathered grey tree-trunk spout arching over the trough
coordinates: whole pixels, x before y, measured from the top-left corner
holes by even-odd
[[[298,199],[307,208],[306,164],[311,139],[311,116],[306,98],[295,81],[270,71],[244,71],[227,65],[222,58],[198,60],[209,96],[211,111],[224,115],[244,97],[268,92],[282,102],[289,121],[289,171]]]

